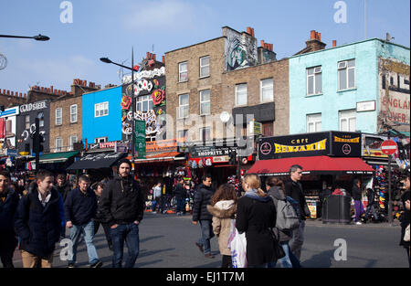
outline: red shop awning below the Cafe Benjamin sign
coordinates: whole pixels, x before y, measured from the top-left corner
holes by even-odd
[[[295,157],[259,160],[247,172],[258,175],[289,175],[290,166],[302,166],[302,174],[373,175],[374,169],[360,158],[329,156]]]

